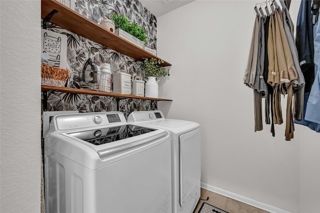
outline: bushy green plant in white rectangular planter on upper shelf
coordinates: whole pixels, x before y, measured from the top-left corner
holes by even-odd
[[[114,33],[143,48],[143,42],[148,37],[142,26],[138,26],[136,23],[129,21],[124,15],[118,15],[116,13],[111,14],[111,19],[115,26]]]

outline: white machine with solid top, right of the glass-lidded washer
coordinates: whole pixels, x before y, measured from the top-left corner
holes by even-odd
[[[172,212],[192,213],[200,198],[200,130],[191,121],[165,119],[161,111],[132,112],[127,123],[170,132]]]

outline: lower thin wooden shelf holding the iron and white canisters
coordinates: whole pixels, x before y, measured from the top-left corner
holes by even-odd
[[[110,93],[110,92],[93,91],[93,90],[87,90],[87,89],[75,89],[75,88],[69,88],[69,87],[56,87],[56,86],[41,85],[42,92],[48,91],[48,90],[54,90],[57,92],[65,92],[65,93],[109,96],[109,97],[116,97],[119,99],[135,98],[135,99],[144,99],[144,100],[153,100],[153,101],[172,101],[169,99],[161,99],[161,98],[149,98],[149,97],[142,97],[142,96],[122,95],[122,94]]]

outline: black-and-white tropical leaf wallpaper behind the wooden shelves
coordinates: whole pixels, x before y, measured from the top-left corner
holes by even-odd
[[[156,18],[138,0],[76,0],[74,10],[96,23],[113,12],[123,14],[130,21],[144,27],[148,36],[145,45],[156,49]],[[141,69],[133,58],[55,24],[49,24],[47,30],[67,36],[67,69],[70,70],[67,87],[80,88],[82,69],[89,57],[100,67],[103,63],[109,63],[112,73],[129,73],[132,79],[135,76],[142,77]],[[132,111],[156,110],[157,103],[150,100],[122,99],[118,102],[118,109],[127,117]],[[48,93],[47,110],[117,111],[117,101],[113,97],[51,92]]]

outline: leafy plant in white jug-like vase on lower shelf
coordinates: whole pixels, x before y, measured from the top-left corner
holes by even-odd
[[[157,77],[170,75],[169,71],[166,71],[160,64],[163,60],[155,58],[145,58],[144,61],[140,62],[140,67],[144,73],[145,83],[145,97],[157,98],[158,97],[158,80]]]

